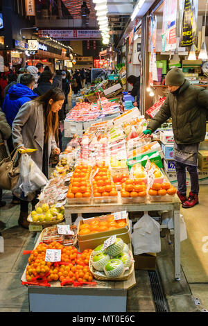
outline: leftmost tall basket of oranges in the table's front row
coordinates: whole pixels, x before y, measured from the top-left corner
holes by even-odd
[[[78,165],[71,176],[67,198],[69,204],[90,204],[92,200],[91,186],[92,167]]]

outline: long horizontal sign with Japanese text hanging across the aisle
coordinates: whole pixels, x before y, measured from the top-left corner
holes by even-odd
[[[101,38],[101,31],[98,30],[39,30],[38,37],[53,37],[60,40],[68,39],[94,39]]]

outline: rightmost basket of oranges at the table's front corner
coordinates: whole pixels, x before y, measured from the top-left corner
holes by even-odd
[[[172,201],[176,194],[176,189],[170,182],[153,183],[153,186],[148,191],[150,201],[162,202]]]

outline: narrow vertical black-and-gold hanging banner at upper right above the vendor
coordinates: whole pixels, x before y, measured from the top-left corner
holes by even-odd
[[[180,12],[182,12],[180,46],[191,46],[194,44],[196,33],[198,0],[180,1]]]

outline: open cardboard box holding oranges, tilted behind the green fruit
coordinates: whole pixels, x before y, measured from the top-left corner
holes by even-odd
[[[112,215],[112,214],[110,214]],[[112,237],[112,235],[116,234],[117,237],[121,238],[125,243],[130,243],[130,224],[128,217],[126,218],[126,226],[125,228],[119,228],[115,230],[110,231],[104,231],[104,232],[98,232],[93,234],[86,234],[86,235],[79,235],[80,232],[80,225],[83,223],[90,223],[93,220],[100,220],[100,221],[106,221],[107,217],[110,215],[103,215],[93,218],[85,218],[85,220],[82,220],[79,222],[78,225],[78,243],[80,251],[83,252],[85,249],[94,249],[100,244],[102,244],[105,240]]]

